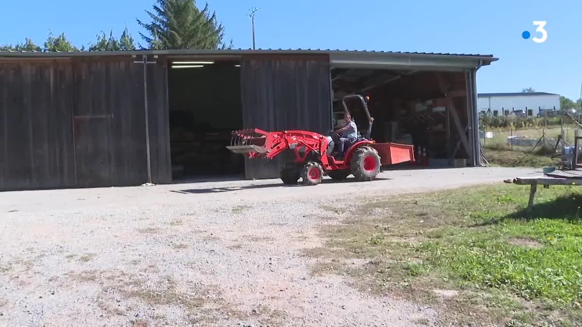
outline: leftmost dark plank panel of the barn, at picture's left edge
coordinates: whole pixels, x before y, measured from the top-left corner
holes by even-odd
[[[0,190],[75,185],[69,62],[0,62]]]

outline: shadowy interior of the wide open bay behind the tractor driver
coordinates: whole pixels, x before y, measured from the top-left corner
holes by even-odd
[[[371,137],[379,143],[413,144],[417,157],[427,157],[415,165],[442,166],[454,163],[454,159],[468,159],[454,122],[458,118],[467,126],[463,72],[332,69],[332,88],[335,125],[337,120],[342,122],[342,97],[360,94],[368,97],[368,109],[374,117]],[[356,111],[352,116],[359,125],[365,118],[361,105],[352,101],[348,107]]]

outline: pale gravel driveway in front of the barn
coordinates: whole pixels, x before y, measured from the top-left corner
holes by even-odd
[[[409,326],[438,312],[314,276],[320,208],[500,183],[532,169],[393,170],[279,180],[0,193],[0,325]],[[353,262],[353,264],[359,264]]]

